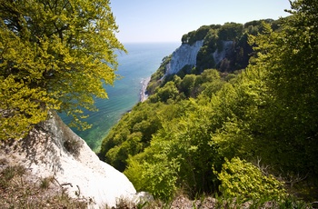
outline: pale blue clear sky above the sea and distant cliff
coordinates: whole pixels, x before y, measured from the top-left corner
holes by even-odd
[[[122,43],[181,42],[202,25],[289,15],[288,0],[111,0]]]

